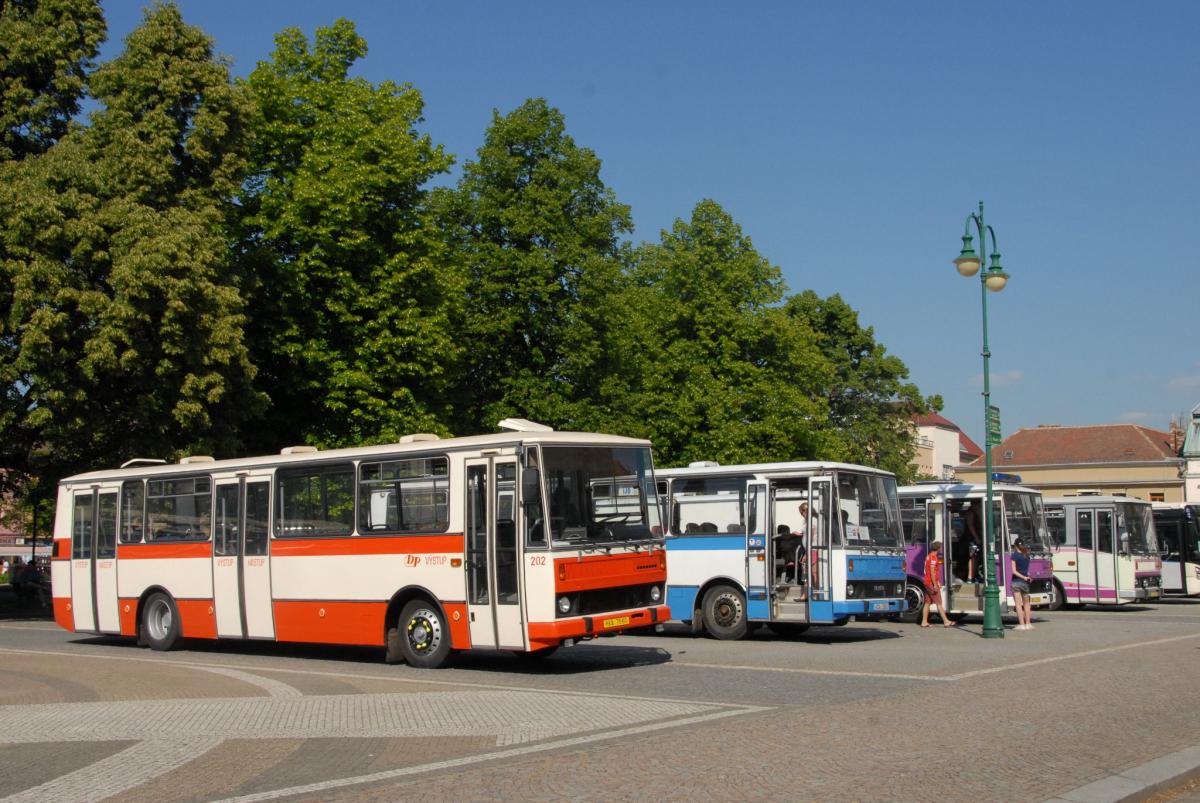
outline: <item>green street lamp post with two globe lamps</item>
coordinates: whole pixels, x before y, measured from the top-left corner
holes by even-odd
[[[962,252],[954,260],[959,274],[967,278],[979,272],[982,262],[976,256],[972,245],[971,223],[974,222],[979,232],[979,253],[988,252],[988,238],[991,238],[991,264],[988,270],[979,276],[979,292],[983,298],[983,421],[984,421],[984,463],[988,471],[988,503],[984,515],[984,592],[983,592],[983,637],[1003,639],[1004,623],[1000,617],[1000,588],[996,586],[996,534],[994,527],[995,508],[992,505],[991,492],[991,438],[988,435],[988,419],[991,411],[991,380],[988,374],[988,360],[991,352],[988,349],[988,290],[998,293],[1008,283],[1008,274],[1000,266],[1000,251],[996,247],[996,233],[983,222],[983,202],[979,202],[979,212],[967,216],[966,230],[962,233]]]

